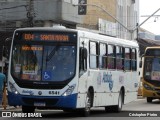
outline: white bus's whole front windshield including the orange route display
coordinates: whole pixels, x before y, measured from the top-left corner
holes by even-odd
[[[16,31],[11,75],[17,83],[27,85],[69,82],[76,70],[76,40],[74,32]]]

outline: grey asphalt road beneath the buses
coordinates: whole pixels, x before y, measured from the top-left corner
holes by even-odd
[[[2,110],[3,111],[3,110]],[[11,112],[21,112],[21,108],[10,109]],[[123,110],[120,113],[106,113],[103,107],[92,108],[91,115],[89,117],[80,117],[77,112],[67,113],[61,110],[37,110],[42,118],[38,119],[64,119],[64,120],[158,120],[160,118],[160,101],[155,100],[152,103],[147,103],[145,99],[137,99],[131,103],[123,106]],[[17,119],[17,117],[8,117],[3,119]],[[29,118],[34,120],[37,118]]]

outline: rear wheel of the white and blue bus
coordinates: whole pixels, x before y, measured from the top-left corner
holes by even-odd
[[[119,93],[118,105],[115,106],[115,112],[120,112],[122,110],[123,105],[123,94],[122,91]]]

